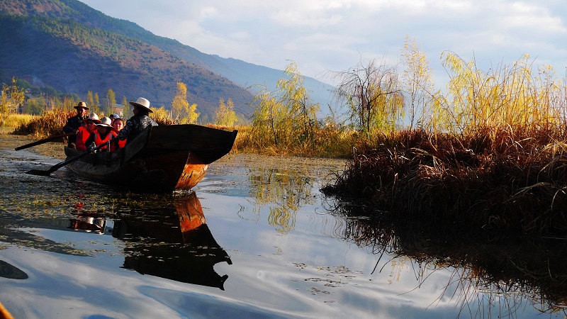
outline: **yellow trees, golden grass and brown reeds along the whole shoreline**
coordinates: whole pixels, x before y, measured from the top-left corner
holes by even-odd
[[[322,189],[327,196],[364,201],[400,218],[458,216],[483,228],[562,235],[567,86],[554,69],[534,72],[524,55],[483,72],[475,61],[444,52],[450,77],[442,92],[413,40],[406,38],[401,57],[403,72],[376,60],[329,72],[341,116],[317,118],[320,105],[291,62],[276,91],[256,94],[249,124],[237,123],[232,101],[220,99],[217,121],[208,125],[239,130],[232,152],[347,159],[344,172]],[[177,85],[172,111],[162,106],[152,113],[160,125],[198,118],[184,84]],[[59,134],[78,101],[64,102],[13,133]]]

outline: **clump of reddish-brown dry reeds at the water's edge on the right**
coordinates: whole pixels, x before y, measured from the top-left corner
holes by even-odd
[[[327,195],[400,218],[563,235],[564,130],[490,128],[466,136],[406,130],[355,154]],[[376,211],[374,211],[376,212]]]

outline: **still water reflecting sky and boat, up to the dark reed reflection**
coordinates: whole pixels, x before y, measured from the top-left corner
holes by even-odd
[[[193,192],[154,196],[25,174],[62,148],[13,150],[27,142],[0,135],[0,302],[16,318],[563,317],[467,269],[376,254],[318,191],[342,161],[230,155]]]

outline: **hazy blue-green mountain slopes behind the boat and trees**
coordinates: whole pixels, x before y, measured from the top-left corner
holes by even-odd
[[[184,82],[189,102],[213,118],[220,98],[235,111],[252,114],[251,86],[274,90],[283,71],[218,55],[111,18],[77,0],[0,1],[0,78],[31,79],[82,98],[101,98],[113,89],[116,101],[140,96],[169,108],[176,82]],[[29,82],[29,81],[28,81]],[[332,86],[305,77],[305,87],[325,109]]]

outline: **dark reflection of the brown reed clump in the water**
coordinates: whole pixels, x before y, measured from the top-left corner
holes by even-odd
[[[451,270],[444,295],[459,300],[461,315],[503,315],[492,313],[493,307],[514,315],[527,305],[542,313],[566,313],[565,237],[475,229],[444,218],[401,218],[353,203],[333,203],[329,211],[346,221],[339,237],[371,247],[381,257],[413,259],[418,285],[431,271]]]

